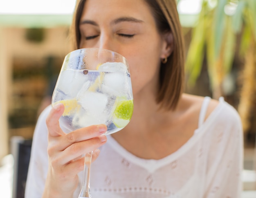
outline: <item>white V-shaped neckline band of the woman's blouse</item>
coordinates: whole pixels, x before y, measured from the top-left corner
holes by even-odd
[[[198,139],[207,132],[207,130],[204,130],[207,127],[211,126],[211,123],[218,118],[218,113],[222,109],[223,102],[220,101],[218,106],[211,112],[209,117],[202,123],[202,125],[198,126],[198,128],[194,131],[193,136],[184,143],[177,151],[169,154],[168,156],[165,156],[161,159],[144,159],[140,158],[138,156],[135,156],[134,154],[130,153],[128,150],[126,150],[124,147],[122,147],[111,135],[108,136],[108,145],[112,147],[115,152],[119,153],[122,157],[128,159],[132,163],[143,167],[147,169],[148,172],[153,173],[155,170],[159,169],[160,167],[167,165],[173,161],[175,161],[179,156],[186,153],[188,150],[195,145],[195,143],[198,143]]]

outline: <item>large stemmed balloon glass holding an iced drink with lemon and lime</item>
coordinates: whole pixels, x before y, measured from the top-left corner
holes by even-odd
[[[106,124],[105,133],[124,128],[133,111],[132,86],[126,59],[113,51],[82,48],[67,54],[52,97],[52,105],[65,106],[59,122],[68,131]],[[79,198],[91,198],[92,152],[85,154]]]

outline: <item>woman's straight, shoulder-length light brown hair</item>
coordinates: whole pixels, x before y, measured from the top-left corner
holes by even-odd
[[[156,96],[161,108],[175,109],[184,86],[184,40],[176,0],[145,0],[150,6],[159,33],[171,31],[173,34],[173,52],[168,61],[160,66],[159,89]],[[79,48],[81,33],[79,22],[85,0],[77,0],[76,9],[70,27],[74,49]]]

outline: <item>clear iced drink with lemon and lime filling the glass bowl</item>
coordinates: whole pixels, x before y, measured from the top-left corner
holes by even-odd
[[[60,124],[70,131],[106,124],[106,134],[124,128],[133,110],[130,74],[122,63],[105,63],[97,70],[62,70],[52,102],[63,103]]]

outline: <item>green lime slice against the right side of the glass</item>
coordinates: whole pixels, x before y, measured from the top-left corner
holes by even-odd
[[[124,128],[130,121],[133,112],[133,100],[120,100],[113,113],[113,123]]]

